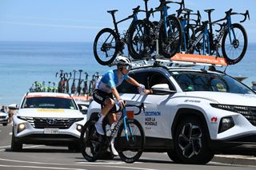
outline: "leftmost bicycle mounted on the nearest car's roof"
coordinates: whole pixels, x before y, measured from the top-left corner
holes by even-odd
[[[110,65],[115,57],[118,54],[122,54],[122,50],[124,49],[124,45],[127,44],[130,28],[126,31],[124,36],[122,37],[118,30],[118,24],[121,22],[125,22],[126,20],[133,19],[130,26],[133,22],[138,20],[137,14],[140,6],[133,9],[133,14],[124,18],[120,21],[116,21],[114,14],[118,10],[108,10],[107,12],[111,14],[114,23],[114,30],[110,28],[104,28],[98,32],[94,39],[94,57],[101,65]],[[129,50],[129,49],[128,49]]]

